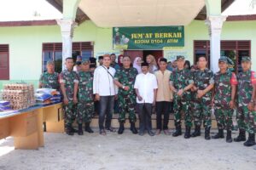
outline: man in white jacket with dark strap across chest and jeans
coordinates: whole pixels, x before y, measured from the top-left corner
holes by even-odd
[[[110,56],[104,55],[103,65],[96,68],[93,79],[93,94],[96,94],[96,100],[98,100],[100,104],[99,127],[100,134],[102,135],[106,135],[105,128],[110,132],[115,132],[113,127],[111,127],[111,119],[117,88],[113,83],[115,70],[110,66],[110,63]],[[107,117],[104,127],[105,116]]]

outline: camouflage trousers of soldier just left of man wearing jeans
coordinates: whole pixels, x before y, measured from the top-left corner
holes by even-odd
[[[94,101],[79,101],[78,104],[78,124],[89,123],[94,115]]]

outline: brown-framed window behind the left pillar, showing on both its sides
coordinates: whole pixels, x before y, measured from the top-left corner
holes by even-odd
[[[83,59],[93,57],[93,46],[91,42],[73,42],[72,57],[74,61],[78,55]],[[46,71],[47,61],[55,61],[55,71],[61,72],[62,70],[62,43],[43,43],[43,71]]]

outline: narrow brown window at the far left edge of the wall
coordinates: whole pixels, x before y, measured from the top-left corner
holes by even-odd
[[[9,45],[0,44],[0,80],[9,80]]]

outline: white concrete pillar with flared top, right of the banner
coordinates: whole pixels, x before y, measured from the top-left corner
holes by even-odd
[[[208,16],[206,24],[209,27],[210,36],[210,68],[215,73],[218,71],[218,59],[220,58],[220,35],[226,16]]]

